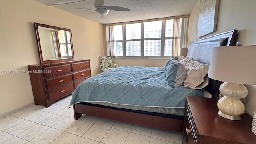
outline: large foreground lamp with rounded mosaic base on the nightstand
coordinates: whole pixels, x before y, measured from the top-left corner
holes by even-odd
[[[248,94],[243,84],[256,84],[256,45],[213,47],[208,77],[224,82],[218,100],[218,114],[230,120],[241,120],[244,104],[239,100]]]

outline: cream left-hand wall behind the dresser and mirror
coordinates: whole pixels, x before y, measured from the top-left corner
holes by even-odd
[[[90,59],[92,75],[100,73],[104,55],[102,24],[34,0],[1,0],[0,70],[28,70],[40,63],[34,22],[72,30],[75,59]],[[1,73],[0,114],[34,102],[29,74]]]

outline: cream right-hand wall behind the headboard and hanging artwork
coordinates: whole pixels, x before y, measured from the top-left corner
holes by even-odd
[[[198,14],[200,0],[190,13],[188,45],[191,41],[198,39]],[[256,1],[255,0],[220,0],[217,31],[206,35],[211,36],[226,32],[228,30],[238,30],[235,42],[242,41],[243,45],[256,45]],[[256,85],[246,85],[248,96],[242,100],[245,110],[251,116],[256,111]]]

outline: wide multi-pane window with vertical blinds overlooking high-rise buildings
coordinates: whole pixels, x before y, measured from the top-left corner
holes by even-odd
[[[179,48],[186,46],[187,22],[188,18],[183,16],[129,24],[108,24],[108,54],[117,58],[179,56]]]

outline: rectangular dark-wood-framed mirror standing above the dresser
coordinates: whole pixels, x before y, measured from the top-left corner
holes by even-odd
[[[71,30],[34,23],[41,64],[74,60]]]

